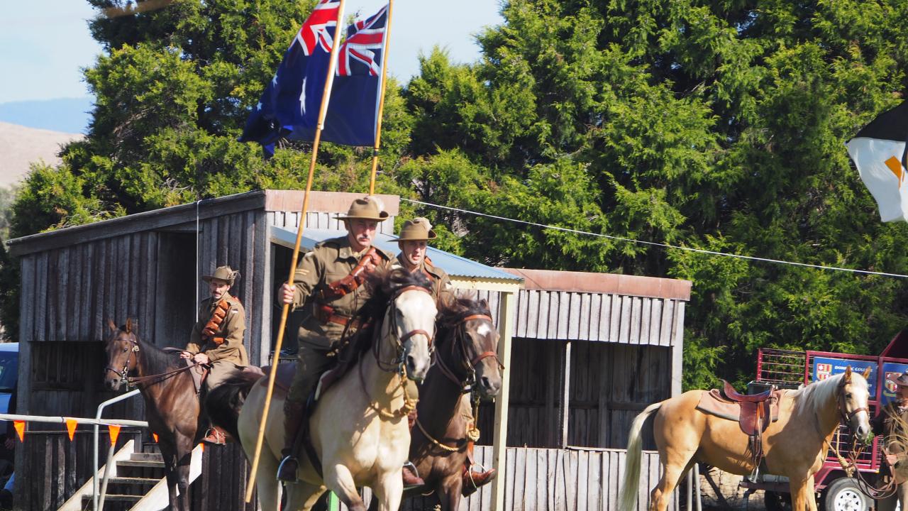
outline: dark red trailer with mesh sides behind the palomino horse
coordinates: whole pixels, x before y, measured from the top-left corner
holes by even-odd
[[[870,369],[871,416],[875,416],[880,406],[895,398],[893,380],[908,370],[908,330],[903,330],[893,337],[889,345],[879,356],[851,355],[824,351],[787,351],[761,348],[756,359],[756,379],[747,388],[748,393],[763,392],[769,386],[779,388],[797,388],[828,376],[844,371],[846,366],[863,372]],[[833,443],[843,453],[851,445],[851,436],[845,426],[833,437]],[[880,473],[882,453],[879,449],[879,437],[873,439],[873,445],[864,450],[857,460],[857,468],[865,480],[876,484]],[[859,489],[854,477],[845,474],[836,457],[830,453],[823,468],[814,476],[815,490],[820,499],[820,509],[825,511],[870,511],[873,500]],[[784,477],[760,475],[757,482],[747,479],[742,487],[749,491],[765,490],[767,511],[783,509],[788,498],[788,482]]]

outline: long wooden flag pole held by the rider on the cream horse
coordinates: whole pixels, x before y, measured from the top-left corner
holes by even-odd
[[[337,64],[337,50],[341,43],[341,28],[343,24],[343,6],[345,0],[341,0],[338,5],[337,25],[334,27],[334,38],[331,41],[331,57],[328,59],[328,76],[325,79],[325,88],[321,92],[321,107],[319,108],[319,124],[315,128],[315,138],[312,141],[312,157],[309,161],[309,175],[306,178],[306,192],[302,195],[302,209],[300,212],[300,225],[296,229],[296,243],[293,244],[293,255],[290,264],[290,276],[287,277],[287,285],[293,286],[293,276],[296,273],[296,263],[300,254],[300,243],[302,240],[303,226],[306,224],[306,211],[309,209],[309,194],[312,190],[312,178],[315,175],[315,161],[319,155],[319,143],[321,142],[321,130],[325,125],[325,114],[328,111],[328,100],[331,97],[331,85],[334,83],[334,66]],[[249,476],[249,483],[246,484],[246,502],[252,501],[252,491],[255,489],[255,474],[259,469],[259,460],[262,455],[262,440],[265,437],[265,426],[268,423],[268,412],[271,408],[271,394],[274,391],[274,380],[278,372],[278,364],[281,360],[281,344],[283,343],[284,330],[287,326],[287,316],[290,314],[290,304],[283,304],[281,310],[281,326],[278,328],[278,338],[274,345],[275,359],[271,364],[271,374],[268,376],[268,391],[265,394],[265,404],[262,407],[262,420],[259,421],[259,436],[255,441],[255,455],[252,456],[252,471]]]

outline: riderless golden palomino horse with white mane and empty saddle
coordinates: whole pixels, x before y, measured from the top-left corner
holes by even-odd
[[[754,470],[748,437],[738,424],[696,409],[705,392],[691,390],[647,406],[634,419],[627,438],[627,469],[618,509],[637,509],[640,430],[646,417],[653,414],[662,478],[653,489],[650,511],[665,511],[681,476],[696,462],[742,476]],[[867,380],[853,373],[850,366],[839,375],[784,391],[778,420],[763,434],[763,452],[766,472],[788,477],[794,511],[816,510],[814,474],[823,466],[826,449],[840,421],[858,438],[870,433],[868,398]]]

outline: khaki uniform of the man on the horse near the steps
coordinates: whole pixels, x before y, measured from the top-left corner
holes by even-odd
[[[192,334],[186,351],[195,355],[204,353],[212,362],[212,370],[205,378],[205,389],[222,384],[229,373],[237,367],[249,366],[246,347],[242,345],[242,336],[246,331],[246,312],[240,300],[224,293],[221,298],[227,301],[227,314],[214,336],[202,338],[202,330],[212,318],[216,306],[221,300],[205,298],[199,306],[199,321],[192,326]]]

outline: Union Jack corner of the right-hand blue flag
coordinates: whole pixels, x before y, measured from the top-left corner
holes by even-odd
[[[347,40],[341,45],[338,55],[338,76],[378,76],[381,73],[387,22],[388,5],[385,5],[369,19],[347,28]]]

